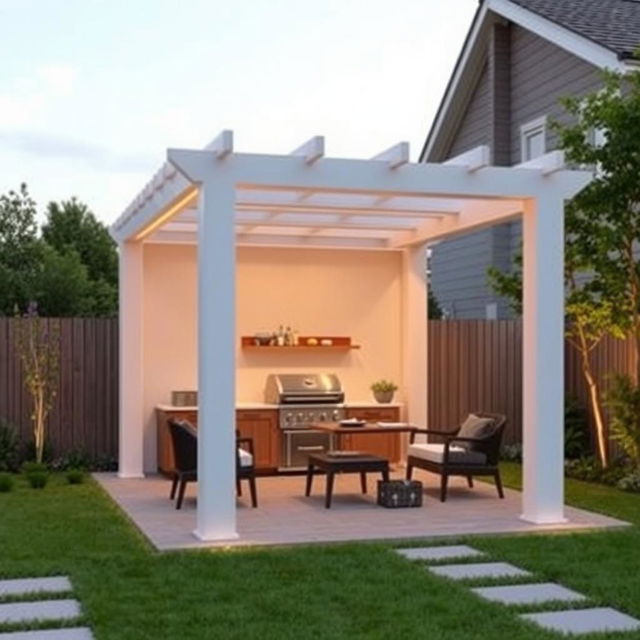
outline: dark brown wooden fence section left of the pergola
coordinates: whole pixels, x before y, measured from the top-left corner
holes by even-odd
[[[15,320],[0,318],[0,418],[32,439],[31,399],[15,349]],[[118,452],[118,320],[62,318],[58,394],[47,434],[54,455],[82,450],[90,456]]]

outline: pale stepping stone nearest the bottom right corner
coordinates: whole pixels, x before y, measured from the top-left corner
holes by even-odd
[[[609,607],[576,609],[574,611],[550,611],[521,615],[545,629],[561,633],[595,633],[601,631],[635,631],[640,620]]]

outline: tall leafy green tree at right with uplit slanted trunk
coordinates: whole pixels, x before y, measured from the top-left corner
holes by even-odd
[[[608,72],[600,91],[566,98],[563,104],[572,121],[554,124],[559,146],[568,162],[595,172],[594,180],[565,209],[566,313],[567,338],[581,356],[598,453],[606,466],[602,394],[591,363],[591,354],[605,335],[632,336],[635,384],[640,381],[640,262],[636,252],[640,242],[640,73]],[[516,310],[521,310],[521,265],[519,255],[511,273],[489,273],[493,288],[506,295]],[[617,380],[614,384],[621,384]]]

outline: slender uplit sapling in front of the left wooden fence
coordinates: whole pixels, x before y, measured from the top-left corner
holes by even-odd
[[[16,348],[24,384],[31,395],[36,462],[42,463],[47,418],[58,387],[60,327],[56,320],[38,315],[35,303],[25,315],[16,314]]]

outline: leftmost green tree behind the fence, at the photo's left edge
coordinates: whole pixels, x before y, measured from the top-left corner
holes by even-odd
[[[11,315],[32,299],[41,249],[36,206],[27,186],[0,195],[0,315]]]

